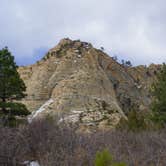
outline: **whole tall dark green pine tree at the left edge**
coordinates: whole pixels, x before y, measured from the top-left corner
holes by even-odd
[[[26,86],[17,72],[14,56],[5,47],[0,50],[0,119],[3,125],[15,121],[16,116],[29,114],[26,106],[16,102],[25,97]]]

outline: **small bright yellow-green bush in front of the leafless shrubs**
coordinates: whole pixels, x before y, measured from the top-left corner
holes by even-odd
[[[126,166],[123,162],[114,162],[112,155],[107,149],[97,152],[95,166]]]

